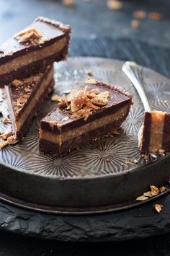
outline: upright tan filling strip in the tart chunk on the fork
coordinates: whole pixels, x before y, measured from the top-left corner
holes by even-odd
[[[161,111],[153,111],[151,113],[151,132],[149,151],[156,152],[162,148],[162,140],[164,134],[165,113]]]

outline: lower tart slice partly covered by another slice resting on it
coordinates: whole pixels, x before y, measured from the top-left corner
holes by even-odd
[[[10,86],[5,87],[4,94],[16,141],[21,141],[27,133],[33,116],[53,90],[54,84],[52,65],[45,69],[44,74],[38,73],[22,80],[14,79]],[[3,134],[0,137],[3,138]]]

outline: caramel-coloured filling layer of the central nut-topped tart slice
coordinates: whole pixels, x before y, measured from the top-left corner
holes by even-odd
[[[63,133],[52,133],[50,131],[42,131],[42,129],[40,129],[40,138],[61,145],[65,141],[71,140],[72,138],[81,136],[84,133],[88,133],[89,131],[95,130],[99,127],[124,118],[128,111],[128,107],[129,106],[122,107],[115,113],[106,115],[102,118],[87,123],[86,125],[82,125],[78,128],[73,128],[70,131],[65,131]]]

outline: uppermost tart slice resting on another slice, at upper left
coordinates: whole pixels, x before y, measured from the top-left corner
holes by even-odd
[[[66,58],[71,27],[38,17],[0,46],[0,87]]]

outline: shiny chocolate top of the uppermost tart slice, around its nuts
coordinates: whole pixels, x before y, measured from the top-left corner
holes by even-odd
[[[9,40],[6,40],[6,42],[0,46],[0,65],[11,61],[17,56],[21,56],[24,53],[40,50],[51,45],[71,32],[71,27],[69,25],[64,25],[61,22],[45,17],[37,17],[35,22],[32,22],[31,25],[25,27],[24,30],[30,28],[35,28],[42,37],[46,38],[45,42],[37,45],[26,45],[24,43],[19,43],[19,37],[9,38]]]

